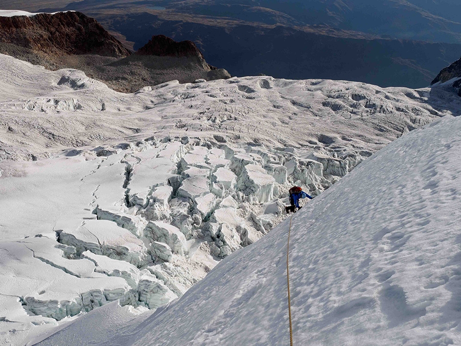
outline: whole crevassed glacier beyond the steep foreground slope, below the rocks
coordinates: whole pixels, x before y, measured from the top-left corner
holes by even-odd
[[[115,300],[126,318],[164,306],[282,221],[292,185],[319,195],[461,112],[444,88],[245,77],[122,94],[76,70],[0,67],[6,344]]]

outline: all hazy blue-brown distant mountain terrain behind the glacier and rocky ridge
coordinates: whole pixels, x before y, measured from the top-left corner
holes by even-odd
[[[135,50],[152,35],[192,40],[207,63],[235,76],[421,88],[461,56],[461,3],[453,0],[6,0],[3,7],[78,10]]]

